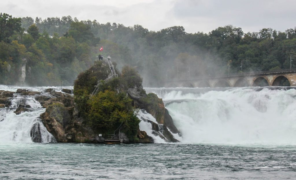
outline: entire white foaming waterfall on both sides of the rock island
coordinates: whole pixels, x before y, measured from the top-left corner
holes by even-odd
[[[17,86],[0,85],[0,89],[16,91]],[[44,91],[35,87],[30,91]],[[66,87],[71,88],[71,87]],[[26,88],[28,89],[28,88]],[[58,91],[58,89],[56,89]],[[296,90],[268,88],[145,88],[163,98],[165,107],[182,137],[182,143],[296,145]],[[24,101],[32,112],[13,113]],[[0,109],[0,142],[32,142],[30,130],[40,122],[43,142],[50,133],[39,116],[45,111],[34,97],[15,95],[10,108]],[[156,143],[165,140],[153,133],[151,123],[157,121],[144,110],[139,111],[140,130]],[[160,127],[161,125],[159,125]],[[161,127],[159,128],[161,129]],[[161,134],[161,131],[159,131]]]

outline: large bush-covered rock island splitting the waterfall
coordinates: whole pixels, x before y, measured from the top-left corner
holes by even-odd
[[[57,142],[104,143],[118,139],[121,143],[153,143],[153,138],[139,129],[141,120],[151,123],[154,135],[166,142],[178,142],[171,134],[178,130],[163,101],[155,94],[146,94],[138,72],[126,66],[114,78],[105,80],[112,70],[97,61],[78,75],[74,95],[69,90],[61,93],[51,89],[47,90],[49,94],[37,95],[35,99],[46,108],[41,121]],[[137,113],[141,109],[157,123],[140,120]]]

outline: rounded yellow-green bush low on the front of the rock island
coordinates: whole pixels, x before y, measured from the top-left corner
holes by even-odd
[[[99,132],[112,134],[122,123],[128,135],[135,135],[140,121],[133,112],[131,102],[124,93],[99,92],[88,101],[89,125]]]

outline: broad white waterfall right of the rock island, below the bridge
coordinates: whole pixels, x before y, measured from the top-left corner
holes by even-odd
[[[184,143],[296,145],[296,90],[147,88]]]

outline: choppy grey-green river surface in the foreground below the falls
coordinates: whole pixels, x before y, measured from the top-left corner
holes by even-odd
[[[296,146],[0,146],[0,179],[296,179],[295,171]]]

